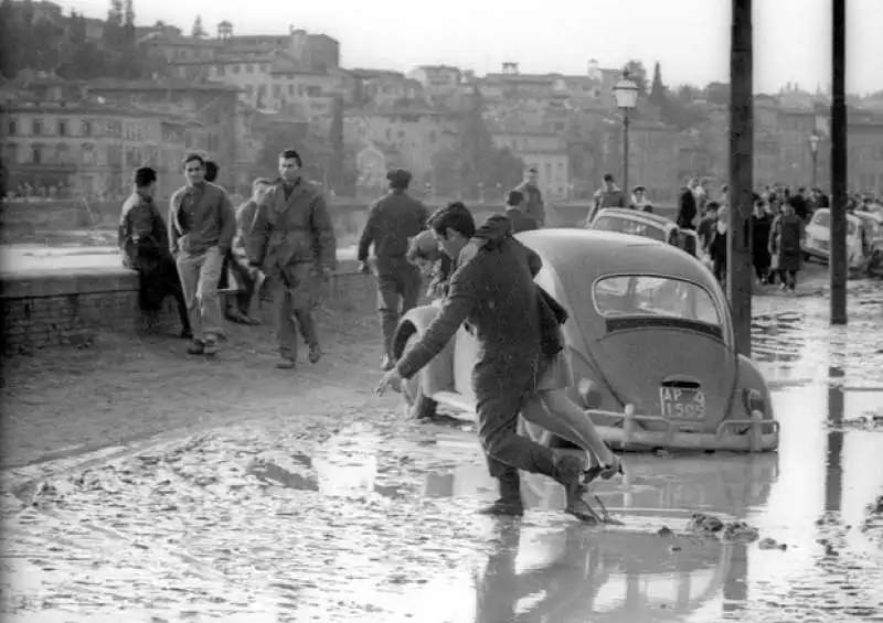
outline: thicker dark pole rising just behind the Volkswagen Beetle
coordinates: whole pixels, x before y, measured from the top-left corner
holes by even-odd
[[[736,351],[752,353],[752,197],[754,194],[754,53],[752,0],[732,0],[730,41],[730,229],[727,296]]]

